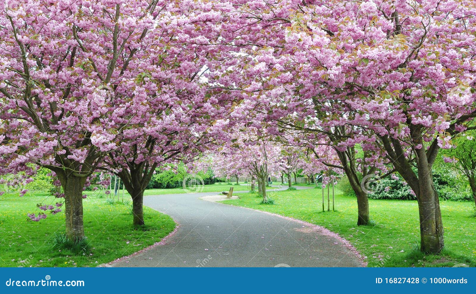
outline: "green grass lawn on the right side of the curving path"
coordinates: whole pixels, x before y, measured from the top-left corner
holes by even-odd
[[[369,199],[372,224],[357,227],[357,199],[336,196],[336,211],[322,212],[320,189],[269,192],[274,205],[259,204],[256,194],[221,201],[301,219],[340,234],[367,256],[368,266],[476,266],[476,218],[471,202],[442,201],[445,249],[424,256],[420,241],[417,201]],[[332,196],[331,196],[332,197]]]

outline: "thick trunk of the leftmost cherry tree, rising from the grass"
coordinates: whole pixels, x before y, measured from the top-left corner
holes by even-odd
[[[66,237],[73,242],[84,238],[83,188],[86,178],[69,176],[62,183],[66,215]]]

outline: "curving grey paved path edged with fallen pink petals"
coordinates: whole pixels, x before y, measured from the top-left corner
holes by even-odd
[[[335,236],[289,218],[198,199],[211,194],[145,197],[146,206],[170,215],[180,227],[165,245],[110,265],[361,266]]]

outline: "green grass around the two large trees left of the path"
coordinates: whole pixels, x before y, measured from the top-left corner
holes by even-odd
[[[27,221],[28,212],[38,214],[36,203],[43,199],[38,194],[0,197],[0,266],[98,266],[159,242],[175,228],[172,218],[145,207],[146,227],[134,229],[130,205],[88,197],[83,203],[90,249],[75,255],[53,249],[55,233],[65,230],[64,212],[40,222]]]

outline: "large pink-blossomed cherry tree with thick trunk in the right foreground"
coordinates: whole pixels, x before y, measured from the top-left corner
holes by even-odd
[[[309,63],[314,75],[329,75],[322,82],[327,89],[311,90],[312,95],[321,101],[332,95],[351,110],[336,123],[360,127],[367,150],[384,155],[407,181],[419,203],[421,250],[438,253],[444,246],[443,225],[431,168],[438,149],[449,147],[451,137],[476,116],[470,57],[476,44],[475,6],[453,1],[358,4],[356,21],[349,12],[345,15],[347,27],[357,26],[362,41],[344,46],[343,54],[338,51],[342,43],[334,43],[335,71]]]

